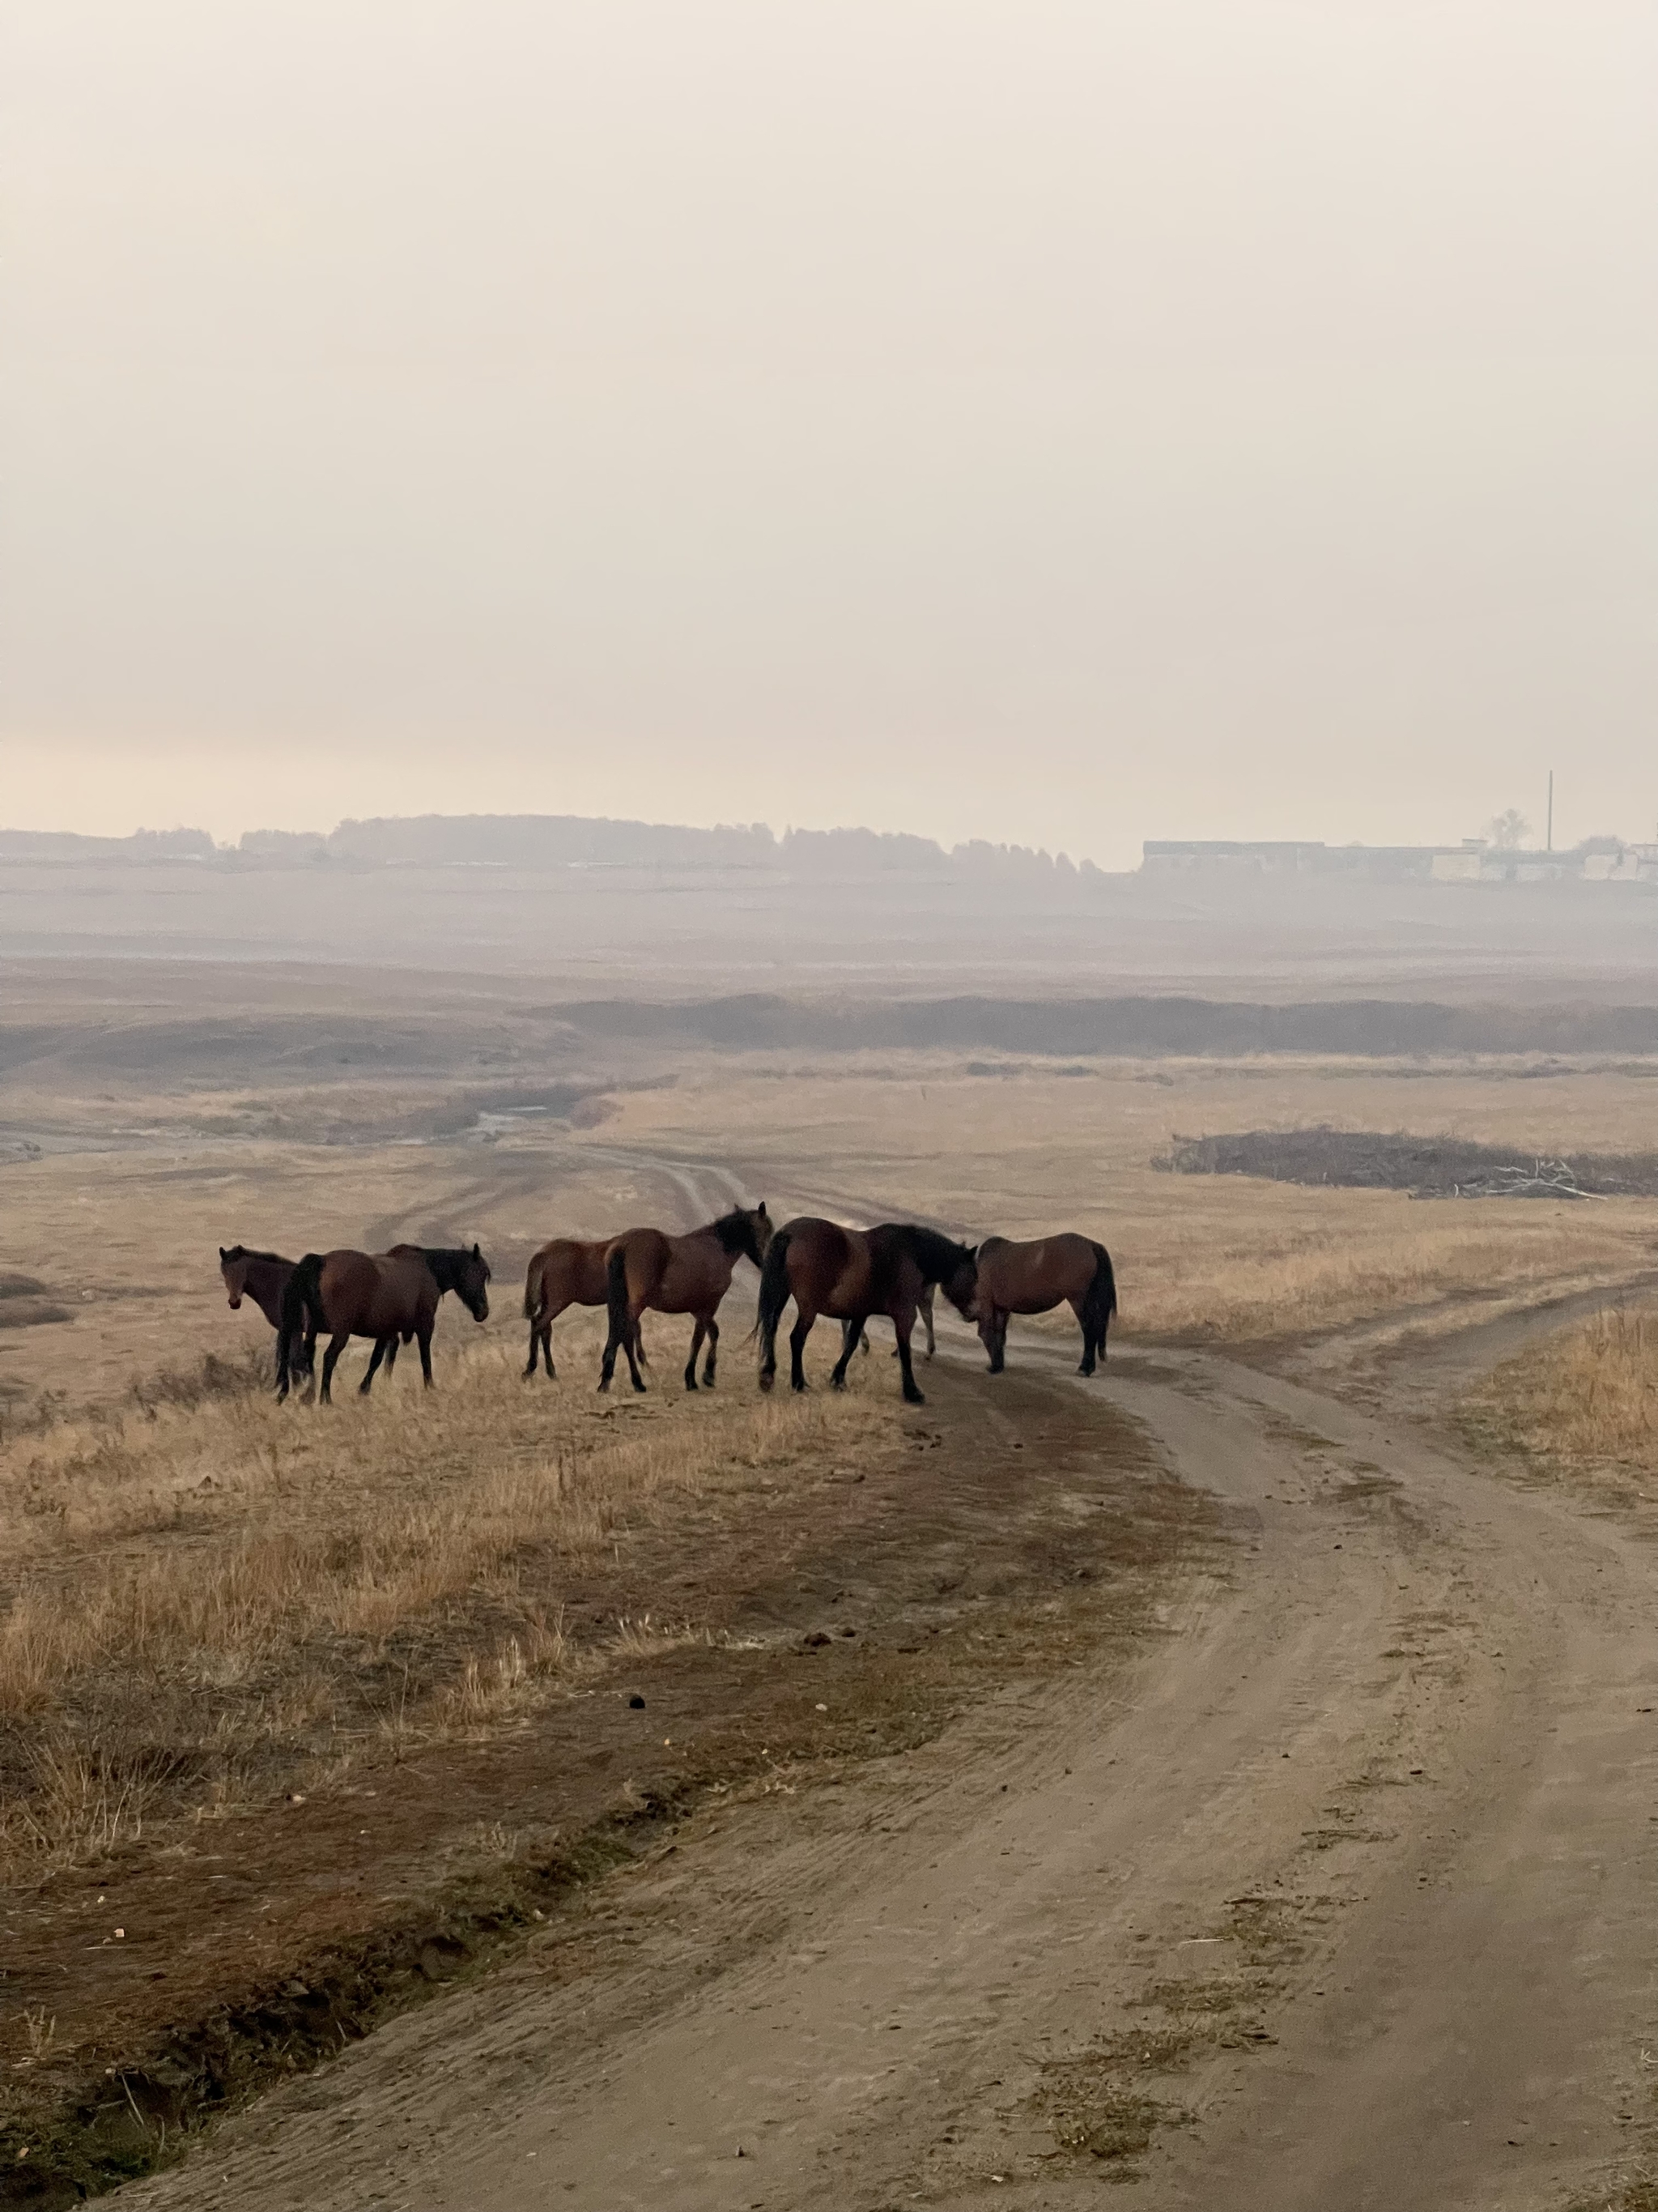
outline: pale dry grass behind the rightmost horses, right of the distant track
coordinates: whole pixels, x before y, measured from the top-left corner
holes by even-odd
[[[1539,1150],[1638,1150],[1647,1075],[1375,1062],[1119,1062],[1077,1075],[975,1077],[913,1066],[725,1068],[623,1099],[612,1141],[685,1144],[718,1128],[774,1197],[964,1234],[1079,1228],[1116,1261],[1125,1336],[1220,1340],[1344,1327],[1406,1310],[1468,1318],[1470,1298],[1530,1301],[1651,1267],[1658,1201],[1415,1201],[1251,1177],[1156,1175],[1172,1130],[1307,1126],[1448,1130]],[[1068,1316],[1066,1316],[1068,1323]],[[1015,1325],[1019,1327],[1019,1325]]]

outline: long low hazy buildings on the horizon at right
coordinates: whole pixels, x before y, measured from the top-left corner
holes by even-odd
[[[1572,852],[1461,845],[1315,845],[1271,838],[1147,838],[1141,869],[1172,876],[1344,876],[1360,883],[1658,883],[1658,845],[1587,838]]]

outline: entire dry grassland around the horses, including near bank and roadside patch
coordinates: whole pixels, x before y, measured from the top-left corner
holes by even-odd
[[[1068,1666],[1068,1639],[1127,1632],[1207,1542],[1203,1502],[1112,1413],[1110,1376],[1066,1416],[1074,1433],[1050,1436],[1048,1489],[1024,1482],[1010,1515],[1006,1471],[1028,1467],[1010,1455],[1057,1418],[1019,1396],[1019,1325],[995,1409],[940,1365],[922,1371],[926,1411],[904,1411],[884,1332],[844,1398],[760,1398],[743,1267],[716,1394],[679,1387],[690,1325],[650,1318],[650,1396],[599,1400],[597,1314],[557,1323],[557,1385],[524,1383],[522,1267],[546,1237],[690,1228],[712,1170],[778,1221],[1088,1230],[1116,1259],[1127,1345],[1446,1327],[1638,1279],[1658,1201],[1419,1203],[1152,1159],[1174,1133],[1309,1121],[1539,1150],[1647,1141],[1645,1068],[1519,1073],[688,1055],[586,1128],[393,1144],[374,1135],[376,1102],[340,1093],[340,1141],[309,1146],[228,1139],[210,1126],[225,1102],[206,1095],[179,1128],[157,1095],[124,1097],[126,1135],[95,1148],[77,1099],[73,1141],[0,1166],[0,1889],[40,1969],[0,2022],[15,2126],[66,2110],[190,2006],[206,2017],[230,1991],[225,1958],[234,1991],[279,1986],[323,1940],[343,1955],[396,1922],[413,1942],[451,1898],[455,1854],[524,1860],[520,1820],[550,1865],[546,1838],[648,1807],[674,1776],[723,1787],[831,1739],[847,1756],[900,1743],[975,1668],[1001,1679],[1010,1644],[1017,1663]],[[405,1360],[358,1400],[363,1347],[332,1411],[279,1409],[270,1329],[228,1310],[217,1248],[405,1237],[484,1243],[489,1325],[447,1303],[431,1396]],[[1649,1469],[1651,1345],[1651,1318],[1570,1334],[1499,1376],[1490,1433]],[[818,1383],[831,1354],[820,1327]],[[1083,1522],[1090,1582],[1074,1575]],[[818,1688],[840,1679],[831,1661],[849,1683],[864,1670],[847,1712],[873,1732],[842,1728]],[[360,1874],[321,1896],[351,1854]],[[203,1898],[221,1918],[197,1929]],[[86,1916],[115,1900],[119,1940],[88,1949]],[[139,1960],[128,1938],[146,1922],[157,1958],[177,1958]]]

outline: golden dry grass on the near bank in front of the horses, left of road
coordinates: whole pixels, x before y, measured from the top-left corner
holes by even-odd
[[[758,1398],[738,1369],[716,1396],[599,1400],[584,1349],[562,1387],[478,1345],[431,1396],[400,1371],[367,1402],[281,1409],[250,1378],[0,1449],[13,1871],[338,1781],[351,1761],[491,1730],[577,1674],[712,1639],[639,1590],[577,1650],[562,1588],[595,1555],[626,1559],[637,1533],[891,1429],[884,1371],[847,1398]]]

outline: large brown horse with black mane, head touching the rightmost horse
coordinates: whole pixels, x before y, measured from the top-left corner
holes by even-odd
[[[915,1310],[928,1283],[962,1314],[973,1318],[977,1267],[973,1245],[953,1243],[937,1230],[913,1221],[882,1221],[873,1230],[842,1230],[838,1221],[802,1214],[785,1223],[772,1239],[760,1270],[760,1389],[772,1389],[778,1371],[778,1321],[794,1298],[794,1332],[789,1336],[789,1387],[805,1389],[802,1352],[818,1314],[844,1321],[840,1358],[831,1374],[836,1389],[847,1387],[851,1360],[871,1314],[886,1314],[898,1334],[898,1363],[904,1376],[904,1402],[926,1405],[915,1387],[909,1338]]]

